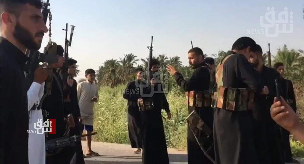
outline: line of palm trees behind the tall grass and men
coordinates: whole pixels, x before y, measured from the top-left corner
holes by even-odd
[[[212,57],[215,60],[215,64],[219,62],[227,55],[227,51],[219,51],[217,54],[206,55],[206,57]],[[166,65],[171,64],[181,72],[184,77],[191,77],[193,70],[188,65],[182,65],[180,57],[175,55],[168,57],[165,54],[154,55],[153,58],[157,59],[161,63],[161,67],[166,71]],[[287,45],[283,48],[277,49],[276,55],[271,56],[272,63],[282,62],[285,65],[285,78],[292,80],[293,82],[304,82],[304,52],[303,50],[289,50]],[[264,64],[268,66],[267,54],[263,54]],[[141,62],[142,64],[138,64]],[[99,85],[107,85],[115,87],[119,84],[126,84],[134,80],[134,71],[137,68],[146,67],[148,58],[138,59],[136,55],[130,53],[123,55],[119,59],[106,60],[96,70],[96,80]],[[173,81],[172,77],[170,78]],[[173,83],[173,82],[172,82]]]

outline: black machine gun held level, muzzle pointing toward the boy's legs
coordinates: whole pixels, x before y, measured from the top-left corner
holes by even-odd
[[[56,138],[56,139],[50,139],[50,140],[46,140],[45,142],[45,149],[50,152],[52,150],[56,150],[56,149],[60,149],[66,146],[75,146],[75,143],[78,141],[81,141],[81,137],[86,137],[86,136],[92,136],[92,135],[96,135],[97,132],[93,132],[90,135],[89,134],[85,134],[85,135],[74,135],[71,137],[60,137],[60,138]]]

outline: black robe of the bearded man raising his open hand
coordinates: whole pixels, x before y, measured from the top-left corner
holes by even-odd
[[[179,86],[185,91],[204,91],[209,90],[210,84],[210,72],[209,69],[202,67],[207,66],[203,63],[199,68],[195,70],[192,77],[186,81],[180,73],[175,73],[174,78]],[[208,67],[208,66],[207,66]],[[213,109],[211,107],[192,107],[188,106],[189,114],[195,110],[196,113],[201,117],[201,119],[209,126],[210,129],[213,128]],[[206,134],[199,130],[198,128],[192,128],[195,136],[204,143],[203,140],[206,139]],[[213,140],[213,139],[211,139]],[[188,126],[188,163],[189,164],[212,164],[212,162],[204,155],[204,152],[199,147],[191,129]],[[204,149],[208,149],[210,145],[203,146]],[[213,152],[213,151],[212,151]],[[211,154],[212,156],[212,154]]]

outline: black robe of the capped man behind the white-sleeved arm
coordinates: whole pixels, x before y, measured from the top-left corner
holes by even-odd
[[[46,119],[56,119],[56,134],[49,134],[46,140],[63,137],[64,131],[66,129],[66,121],[64,121],[64,117],[67,116],[65,113],[69,113],[65,112],[64,110],[62,79],[55,69],[53,70],[53,76],[56,77],[53,77],[51,95],[48,95],[44,99],[41,109],[49,112],[49,115],[46,117]],[[58,81],[55,78],[57,78]],[[65,109],[70,110],[70,108]],[[65,147],[60,153],[53,156],[48,156],[46,158],[46,163],[68,163],[71,161],[73,155],[74,149],[71,147]]]

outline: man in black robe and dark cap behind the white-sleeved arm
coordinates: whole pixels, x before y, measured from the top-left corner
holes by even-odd
[[[52,46],[55,45],[53,44]],[[45,119],[56,119],[56,134],[48,134],[46,140],[63,137],[65,131],[70,131],[70,128],[67,126],[67,121],[70,121],[70,125],[72,128],[74,125],[74,119],[72,119],[71,115],[69,115],[71,114],[71,108],[64,108],[63,82],[61,79],[61,75],[57,72],[57,69],[63,66],[63,53],[64,49],[62,48],[62,46],[57,45],[58,63],[52,64],[53,81],[51,84],[51,94],[45,97],[41,108],[42,110],[45,110],[49,113],[49,115]],[[45,91],[46,90],[47,89],[45,89]],[[71,133],[66,136],[71,136]],[[64,147],[61,151],[58,150],[58,152],[55,151],[54,153],[50,153],[51,155],[48,155],[48,153],[50,152],[47,152],[47,164],[70,163],[74,155],[74,149],[72,149],[71,147]]]

